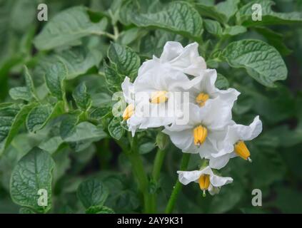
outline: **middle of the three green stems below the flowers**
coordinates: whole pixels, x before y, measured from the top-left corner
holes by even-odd
[[[157,182],[159,180],[159,175],[161,174],[161,167],[163,166],[163,159],[165,156],[166,156],[166,151],[158,148],[155,159],[154,159],[154,166],[153,166],[153,170],[152,170],[152,180],[155,185],[157,185]],[[153,193],[153,195],[151,195],[151,212],[152,213],[155,213],[157,210],[156,199],[157,199],[157,195],[155,192],[155,193]]]

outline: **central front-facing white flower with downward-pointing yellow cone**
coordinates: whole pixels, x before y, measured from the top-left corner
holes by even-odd
[[[216,144],[217,134],[232,123],[233,103],[227,103],[219,97],[213,100],[214,102],[206,103],[203,108],[190,103],[188,124],[173,124],[163,130],[183,152],[199,152],[201,157],[217,152],[213,145]]]

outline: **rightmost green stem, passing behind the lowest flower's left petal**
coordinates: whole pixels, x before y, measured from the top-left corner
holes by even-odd
[[[186,170],[188,167],[188,160],[190,160],[190,155],[189,153],[183,153],[183,158],[181,159],[181,169],[180,170]],[[181,182],[177,179],[176,184],[173,187],[173,191],[171,193],[170,199],[168,199],[168,204],[166,207],[165,212],[167,214],[171,213],[174,209],[176,199],[178,197],[179,192],[181,191]]]

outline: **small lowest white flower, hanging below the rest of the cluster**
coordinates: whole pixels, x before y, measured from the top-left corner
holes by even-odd
[[[206,195],[206,190],[208,190],[211,195],[218,194],[223,185],[233,182],[233,178],[231,177],[220,177],[215,175],[209,166],[202,170],[177,171],[177,173],[178,180],[183,185],[188,185],[188,183],[191,182],[198,183],[203,191],[203,196]]]

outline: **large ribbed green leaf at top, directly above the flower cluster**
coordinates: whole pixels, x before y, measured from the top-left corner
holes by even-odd
[[[195,40],[200,40],[203,32],[198,11],[183,1],[173,1],[155,14],[140,14],[132,9],[131,21],[139,27],[162,28]]]

